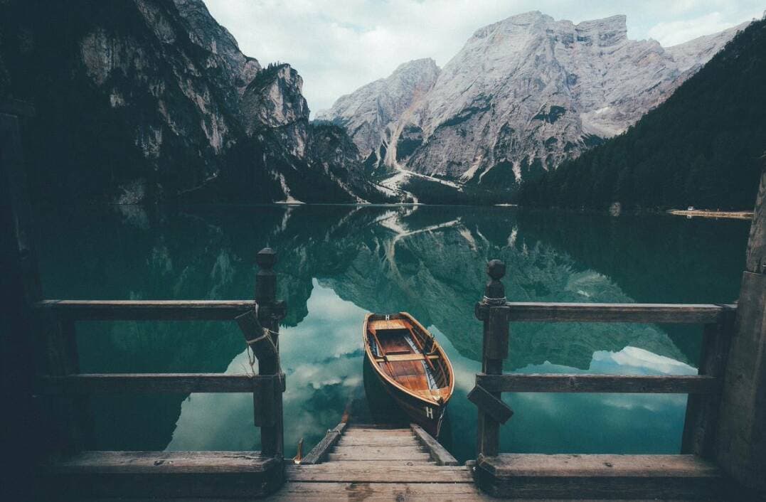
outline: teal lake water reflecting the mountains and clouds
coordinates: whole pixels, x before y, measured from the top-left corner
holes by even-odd
[[[37,218],[47,298],[252,298],[255,253],[279,253],[285,449],[309,451],[348,411],[369,419],[362,320],[409,311],[447,350],[456,386],[441,441],[475,455],[487,259],[510,301],[732,302],[749,222],[507,207],[87,207]],[[694,374],[702,328],[512,324],[506,371]],[[234,322],[82,322],[83,372],[249,370]],[[369,387],[369,382],[368,382]],[[684,395],[506,394],[502,451],[676,453]],[[380,403],[373,403],[379,408]],[[90,399],[97,449],[258,449],[247,394]]]

